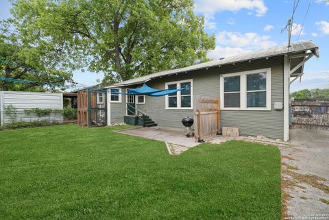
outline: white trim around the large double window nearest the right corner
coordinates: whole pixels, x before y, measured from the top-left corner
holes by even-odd
[[[266,107],[265,108],[247,108],[247,75],[255,73],[266,73]],[[225,108],[224,107],[224,78],[240,75],[240,108]],[[250,92],[250,91],[249,91]],[[220,97],[221,110],[256,110],[270,111],[271,110],[271,68],[256,69],[253,71],[243,71],[239,73],[227,73],[220,77]]]

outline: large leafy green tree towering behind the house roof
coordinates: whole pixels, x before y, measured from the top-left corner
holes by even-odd
[[[107,83],[204,62],[215,47],[192,0],[21,0],[12,14],[26,38],[51,42]]]

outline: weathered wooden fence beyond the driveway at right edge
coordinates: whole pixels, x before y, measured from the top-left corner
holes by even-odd
[[[292,101],[291,127],[329,130],[329,100],[295,99]]]

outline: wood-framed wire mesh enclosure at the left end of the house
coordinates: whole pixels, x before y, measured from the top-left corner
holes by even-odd
[[[77,124],[84,127],[107,125],[106,92],[86,89],[77,93]]]

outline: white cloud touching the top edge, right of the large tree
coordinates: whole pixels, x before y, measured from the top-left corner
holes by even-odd
[[[219,11],[238,12],[247,9],[256,12],[256,16],[263,16],[267,7],[263,0],[196,0],[195,10],[204,14],[212,14]]]

